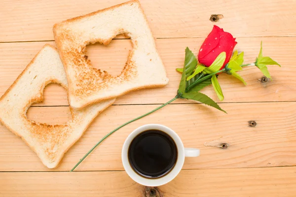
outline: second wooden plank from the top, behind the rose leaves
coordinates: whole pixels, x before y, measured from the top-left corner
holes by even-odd
[[[270,56],[282,64],[283,67],[269,66],[273,81],[260,83],[262,73],[257,67],[244,68],[240,74],[248,85],[245,87],[239,80],[222,74],[219,77],[225,99],[223,102],[250,102],[250,101],[293,101],[296,100],[296,72],[294,60],[294,47],[296,38],[268,37],[268,38],[238,38],[237,49],[245,51],[245,62],[251,63],[259,53],[260,40],[263,40],[263,55]],[[140,90],[129,93],[116,100],[115,104],[147,104],[164,103],[172,99],[179,86],[181,75],[175,68],[184,64],[184,51],[188,46],[195,54],[202,44],[202,38],[186,39],[157,39],[156,45],[160,56],[166,66],[170,82],[163,88]],[[1,43],[0,44],[0,95],[13,83],[25,66],[31,61],[38,50],[45,43]],[[130,40],[113,40],[108,47],[91,45],[88,55],[93,65],[120,72],[126,61]],[[116,58],[114,58],[116,57]],[[103,65],[103,66],[100,66]],[[213,88],[207,87],[204,91],[209,97],[219,101]],[[66,92],[57,85],[50,85],[44,93],[44,102],[39,105],[68,105]],[[188,102],[177,100],[175,103]]]

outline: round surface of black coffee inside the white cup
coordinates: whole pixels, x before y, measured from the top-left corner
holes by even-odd
[[[178,150],[174,140],[165,132],[147,130],[138,134],[130,144],[128,159],[141,176],[159,178],[175,166]]]

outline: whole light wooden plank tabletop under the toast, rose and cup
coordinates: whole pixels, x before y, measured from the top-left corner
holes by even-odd
[[[52,26],[62,20],[109,7],[124,0],[0,0],[0,96],[40,48],[53,44]],[[146,197],[144,186],[128,177],[121,164],[121,147],[137,127],[159,123],[175,130],[186,147],[201,150],[186,158],[175,180],[156,188],[161,197],[295,197],[296,196],[296,1],[295,0],[141,0],[169,84],[127,94],[99,115],[56,169],[46,168],[21,138],[0,125],[0,197]],[[212,14],[222,14],[211,22]],[[105,134],[172,99],[181,78],[185,47],[195,54],[213,25],[237,39],[245,62],[263,54],[282,67],[269,66],[273,81],[261,83],[256,67],[233,77],[219,77],[224,114],[204,104],[176,100],[105,140],[69,170]],[[95,67],[116,74],[131,48],[117,37],[107,47],[88,46]],[[219,101],[212,87],[203,90]],[[44,90],[44,102],[28,111],[31,120],[68,120],[66,91],[56,84]],[[256,121],[250,127],[248,121]],[[229,147],[218,147],[228,143]]]

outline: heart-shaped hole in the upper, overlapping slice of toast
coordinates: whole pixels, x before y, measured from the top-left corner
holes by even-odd
[[[125,37],[125,38],[124,38]],[[85,58],[91,61],[91,65],[102,72],[107,71],[116,77],[121,74],[129,52],[133,49],[131,39],[119,34],[108,45],[99,42],[86,46]]]

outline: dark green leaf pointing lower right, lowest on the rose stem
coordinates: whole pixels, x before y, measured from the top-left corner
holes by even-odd
[[[184,93],[182,95],[182,98],[185,99],[191,99],[191,100],[197,100],[199,102],[202,102],[204,104],[210,105],[212,107],[215,107],[216,109],[219,109],[226,113],[213,99],[209,98],[207,95],[199,93],[199,92],[190,92],[190,93]]]

